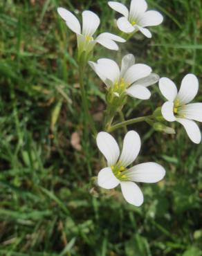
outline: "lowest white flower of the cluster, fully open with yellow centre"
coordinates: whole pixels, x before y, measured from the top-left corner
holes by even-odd
[[[108,166],[100,170],[98,185],[111,189],[120,184],[125,200],[136,206],[143,203],[143,193],[134,181],[156,183],[165,176],[165,169],[157,163],[141,163],[127,169],[138,156],[140,144],[138,133],[128,131],[120,154],[118,144],[110,134],[101,131],[97,136],[98,148],[107,159]]]

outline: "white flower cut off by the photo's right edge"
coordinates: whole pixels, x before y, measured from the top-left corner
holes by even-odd
[[[163,104],[161,113],[169,122],[180,122],[187,131],[187,135],[193,143],[201,142],[201,131],[193,120],[202,122],[202,103],[190,103],[199,90],[199,81],[193,74],[185,75],[181,83],[180,91],[169,78],[159,80],[159,88],[168,100]]]

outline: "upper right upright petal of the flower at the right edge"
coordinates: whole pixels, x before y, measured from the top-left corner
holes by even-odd
[[[199,90],[199,80],[193,74],[185,75],[181,83],[181,89],[178,92],[177,98],[181,104],[191,102]]]

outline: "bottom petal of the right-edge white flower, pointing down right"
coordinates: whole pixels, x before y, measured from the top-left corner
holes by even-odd
[[[177,121],[183,125],[193,143],[199,144],[201,142],[201,131],[196,122],[184,118],[177,118]]]

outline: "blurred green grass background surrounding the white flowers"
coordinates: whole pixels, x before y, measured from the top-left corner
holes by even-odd
[[[120,44],[120,53],[98,46],[94,60],[134,53],[137,62],[176,84],[191,72],[201,82],[201,0],[148,3],[165,17],[152,28],[152,40],[137,34]],[[90,8],[100,16],[100,32],[114,31],[105,0],[0,1],[0,255],[202,255],[202,145],[194,145],[180,126],[176,136],[146,124],[129,127],[143,138],[136,163],[156,161],[167,170],[160,183],[142,186],[141,208],[126,203],[118,190],[93,185],[98,149],[93,138],[82,136],[75,36],[57,6],[79,15]],[[86,87],[102,129],[104,86],[90,68]],[[129,99],[125,116],[160,106],[158,86],[152,92],[152,100]],[[121,139],[123,131],[114,136]]]

